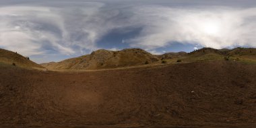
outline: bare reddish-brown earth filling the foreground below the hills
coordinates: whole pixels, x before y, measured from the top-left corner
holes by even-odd
[[[255,127],[256,65],[88,72],[0,65],[2,127]]]

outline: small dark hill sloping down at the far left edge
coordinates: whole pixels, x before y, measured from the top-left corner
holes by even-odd
[[[26,68],[43,68],[41,65],[30,61],[28,58],[5,49],[0,49],[0,63]]]

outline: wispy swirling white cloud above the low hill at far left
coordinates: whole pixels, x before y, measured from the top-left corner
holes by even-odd
[[[57,28],[61,18],[46,7],[1,7],[0,8],[0,46],[22,55],[40,55],[44,53],[42,43],[49,42],[60,53],[74,53],[64,46],[60,38],[50,30],[42,30],[45,24]],[[60,28],[61,29],[61,28]],[[63,31],[63,30],[61,30]]]

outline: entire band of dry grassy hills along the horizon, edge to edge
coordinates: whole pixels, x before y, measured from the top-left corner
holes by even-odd
[[[190,63],[193,61],[210,60],[234,60],[245,63],[256,63],[255,48],[235,48],[235,49],[212,49],[203,48],[191,53],[164,53],[162,55],[152,55],[143,49],[123,49],[121,51],[108,51],[99,49],[90,55],[82,55],[65,59],[59,62],[42,63],[38,65],[18,53],[0,49],[0,63],[15,65],[25,68],[40,69],[113,69],[117,67],[131,67],[137,65],[160,65],[162,63],[170,64],[182,61]]]

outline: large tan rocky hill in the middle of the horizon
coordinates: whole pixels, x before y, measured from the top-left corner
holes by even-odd
[[[142,49],[123,49],[122,51],[107,51],[100,49],[90,55],[67,59],[58,63],[43,63],[48,69],[106,69],[145,65],[158,61],[158,57]]]

